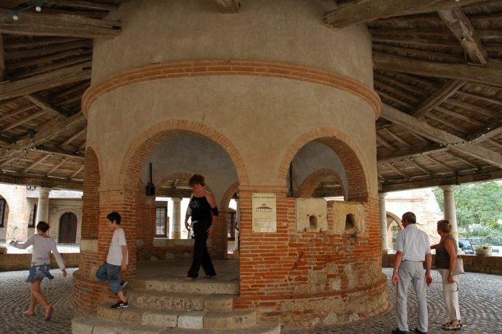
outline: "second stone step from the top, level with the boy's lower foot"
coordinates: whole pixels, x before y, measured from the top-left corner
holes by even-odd
[[[132,305],[186,311],[230,311],[234,309],[234,297],[237,297],[237,295],[195,295],[152,290],[129,290],[124,295]]]

